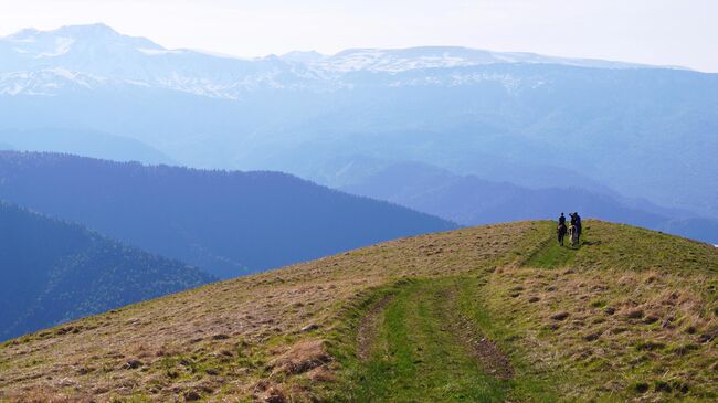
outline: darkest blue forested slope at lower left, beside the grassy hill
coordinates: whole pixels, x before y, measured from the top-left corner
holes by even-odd
[[[6,203],[0,203],[0,340],[213,279]]]

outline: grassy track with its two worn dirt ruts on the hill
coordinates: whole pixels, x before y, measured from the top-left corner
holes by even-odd
[[[369,309],[357,401],[504,402],[514,370],[462,310],[460,280],[416,280]]]

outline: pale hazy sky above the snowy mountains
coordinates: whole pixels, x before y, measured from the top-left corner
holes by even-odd
[[[718,72],[717,20],[718,0],[0,0],[0,35],[104,22],[240,56],[462,45],[707,72]]]

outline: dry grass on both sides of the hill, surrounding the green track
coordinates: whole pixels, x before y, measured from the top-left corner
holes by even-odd
[[[568,254],[551,250],[550,223],[466,229],[43,330],[0,344],[0,401],[320,400],[344,384],[324,340],[344,335],[347,307],[414,277],[481,283],[487,319],[509,329],[488,336],[518,375],[555,382],[568,400],[717,396],[718,251],[627,226],[585,226],[588,243]]]

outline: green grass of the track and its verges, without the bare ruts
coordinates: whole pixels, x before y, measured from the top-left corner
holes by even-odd
[[[442,278],[404,282],[374,291],[358,309],[350,311],[355,329],[373,304],[387,295],[393,299],[377,318],[376,340],[370,356],[361,361],[355,353],[357,333],[344,333],[340,357],[346,393],[332,401],[351,402],[553,402],[549,382],[532,375],[520,353],[517,375],[500,380],[487,373],[468,346],[460,340],[447,312],[461,311],[462,318],[486,333],[517,340],[507,329],[499,329],[481,306],[481,278]],[[447,294],[454,293],[453,298]],[[350,319],[349,321],[351,321]],[[477,330],[476,339],[483,337]],[[341,344],[341,343],[339,343]],[[503,343],[509,346],[508,343]]]

